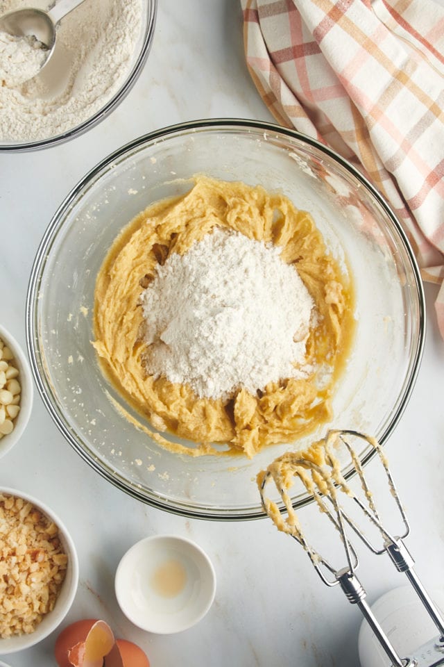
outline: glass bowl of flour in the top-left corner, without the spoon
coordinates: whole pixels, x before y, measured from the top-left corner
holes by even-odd
[[[28,5],[3,0],[0,15]],[[33,2],[41,9],[50,5]],[[17,66],[17,79],[9,72],[7,85],[0,86],[0,151],[46,148],[108,116],[146,61],[156,8],[157,0],[86,0],[62,19],[56,49],[40,74],[23,82]],[[10,50],[0,35],[0,63],[3,47]]]

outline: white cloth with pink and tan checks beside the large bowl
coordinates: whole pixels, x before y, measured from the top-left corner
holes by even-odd
[[[441,284],[444,7],[434,0],[241,0],[246,60],[282,125],[330,145],[391,204]]]

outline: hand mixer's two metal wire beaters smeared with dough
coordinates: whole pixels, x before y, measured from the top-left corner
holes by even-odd
[[[355,439],[357,441],[365,440],[370,447],[373,447],[379,457],[379,461],[382,463],[384,477],[386,477],[386,481],[388,482],[391,497],[393,497],[395,507],[400,514],[402,523],[401,536],[394,536],[382,525],[375,496],[370,491],[359,456],[351,444],[351,441]],[[339,585],[349,602],[357,604],[373,630],[377,641],[379,641],[388,658],[391,660],[392,666],[438,667],[439,665],[444,665],[444,619],[413,570],[413,558],[403,542],[404,538],[409,534],[409,523],[400,502],[398,491],[395,488],[382,447],[374,438],[360,434],[357,431],[336,430],[329,431],[325,440],[322,440],[321,443],[316,443],[316,445],[318,445],[317,457],[307,456],[306,458],[305,456],[302,457],[300,452],[296,454],[288,452],[279,459],[276,459],[276,461],[273,461],[267,470],[259,473],[258,485],[264,510],[280,530],[295,538],[302,545],[302,548],[307,552],[311,563],[324,584],[327,586]],[[343,450],[345,448],[345,452],[350,456],[351,469],[357,474],[361,484],[359,495],[352,491],[348,481],[346,481],[341,472],[341,463],[337,457],[339,447]],[[318,462],[316,458],[319,458],[320,455],[321,462]],[[303,486],[313,496],[321,512],[325,513],[325,517],[332,523],[335,534],[336,532],[339,533],[346,559],[346,565],[343,568],[334,568],[306,540],[287,493],[287,489],[291,485],[293,478],[298,478],[302,481]],[[284,503],[282,510],[278,508],[275,502],[265,496],[266,487],[271,481],[274,482]],[[348,503],[351,502],[355,508],[354,514],[358,513],[361,519],[364,518],[366,522],[369,522],[371,530],[377,535],[376,540],[368,538],[368,534],[364,533],[360,525],[358,525],[357,520],[350,516],[350,511],[345,511],[343,504],[340,502],[340,497],[344,502],[345,500]],[[396,652],[365,600],[366,591],[355,574],[359,566],[359,559],[355,547],[348,536],[351,531],[359,536],[361,541],[364,542],[373,554],[388,554],[398,572],[404,573],[407,576],[420,602],[422,602],[427,614],[429,614],[429,617],[436,626],[438,631],[436,637],[427,644],[418,647],[411,655],[401,657]],[[380,544],[375,543],[377,541],[380,541]]]

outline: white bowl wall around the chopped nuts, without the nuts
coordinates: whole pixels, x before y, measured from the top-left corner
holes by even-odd
[[[22,651],[25,648],[34,646],[44,639],[46,636],[51,634],[53,630],[62,623],[62,620],[67,615],[74,597],[77,591],[78,585],[78,558],[76,553],[76,547],[72,541],[67,528],[62,523],[60,518],[43,502],[37,500],[37,498],[24,493],[23,491],[18,491],[15,488],[8,488],[0,486],[0,494],[5,495],[14,495],[16,497],[23,498],[31,502],[37,509],[42,511],[46,516],[48,516],[58,527],[59,538],[62,543],[62,546],[65,550],[65,553],[68,556],[68,565],[67,572],[65,575],[65,580],[60,589],[60,593],[56,600],[56,604],[52,611],[49,611],[46,614],[42,621],[37,625],[34,632],[30,634],[20,634],[7,639],[0,638],[0,655],[15,653],[17,651]],[[1,662],[0,662],[1,666]]]

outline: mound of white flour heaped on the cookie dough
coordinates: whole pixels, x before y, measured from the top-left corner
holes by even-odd
[[[313,299],[280,248],[215,229],[171,254],[142,295],[146,370],[226,399],[305,377]]]

